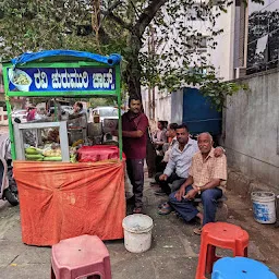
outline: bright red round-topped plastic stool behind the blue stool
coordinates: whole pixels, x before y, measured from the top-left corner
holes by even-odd
[[[233,256],[247,256],[248,233],[228,222],[209,222],[203,227],[198,265],[195,279],[206,279],[213,272],[216,247],[232,250]]]

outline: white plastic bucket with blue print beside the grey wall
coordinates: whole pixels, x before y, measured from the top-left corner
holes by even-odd
[[[253,192],[251,199],[253,202],[254,218],[257,222],[276,222],[275,194],[272,192]]]

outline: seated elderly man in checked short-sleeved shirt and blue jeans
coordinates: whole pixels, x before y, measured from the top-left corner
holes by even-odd
[[[203,227],[215,221],[216,201],[222,196],[222,184],[227,180],[227,158],[214,155],[215,148],[209,133],[198,135],[197,145],[199,151],[193,157],[189,178],[178,192],[170,194],[169,204],[185,221],[198,217]],[[197,196],[202,198],[204,214],[193,204]],[[201,234],[202,227],[194,232]]]

